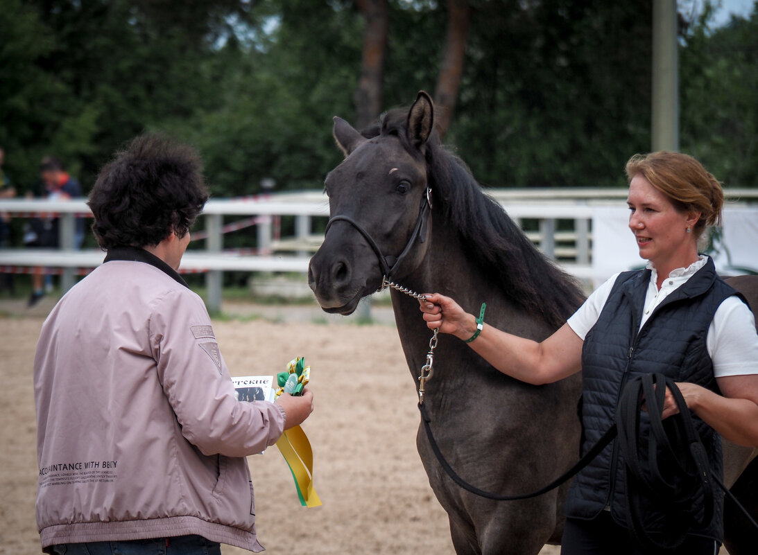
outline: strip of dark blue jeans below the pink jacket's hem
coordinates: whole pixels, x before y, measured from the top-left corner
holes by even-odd
[[[130,541],[92,541],[53,546],[56,555],[221,555],[221,545],[202,536]]]

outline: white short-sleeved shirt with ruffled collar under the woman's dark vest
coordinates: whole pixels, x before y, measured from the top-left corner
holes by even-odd
[[[662,282],[660,290],[656,285],[658,279],[656,270],[648,263],[652,272],[645,295],[640,327],[644,326],[655,307],[694,276],[707,260],[708,257],[701,255],[700,260],[689,267],[673,270]],[[587,332],[597,323],[617,277],[619,277],[618,273],[600,285],[568,319],[568,326],[582,341],[587,336]],[[731,296],[719,305],[708,328],[706,347],[713,361],[713,374],[717,378],[758,374],[758,333],[755,328],[755,317],[747,304]]]

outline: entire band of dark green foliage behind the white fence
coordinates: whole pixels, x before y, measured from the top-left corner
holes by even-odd
[[[652,0],[471,0],[446,141],[496,187],[621,186],[650,148]],[[390,0],[384,108],[433,90],[446,5]],[[758,11],[680,2],[681,150],[758,186]],[[365,19],[346,0],[0,0],[0,146],[23,192],[45,154],[85,192],[145,129],[196,145],[215,196],[320,188],[356,117]]]

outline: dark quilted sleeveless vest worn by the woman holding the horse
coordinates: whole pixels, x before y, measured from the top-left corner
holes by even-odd
[[[713,261],[677,288],[639,329],[650,270],[622,273],[616,279],[597,323],[584,338],[582,350],[583,393],[581,404],[582,451],[592,445],[615,422],[616,406],[624,385],[634,376],[662,373],[677,382],[694,382],[718,392],[713,363],[706,348],[708,327],[719,304],[738,294],[716,275]],[[639,332],[637,330],[639,329]],[[647,413],[642,416],[643,434],[649,431]],[[711,467],[722,474],[721,438],[694,416],[694,424],[709,454]],[[625,463],[616,441],[582,470],[574,480],[565,504],[566,516],[594,519],[610,507],[613,519],[628,527],[625,514]],[[715,492],[715,518],[707,529],[688,533],[722,541],[723,495]],[[702,499],[694,499],[697,507]],[[653,500],[644,500],[643,525],[647,532],[666,527],[666,513]]]

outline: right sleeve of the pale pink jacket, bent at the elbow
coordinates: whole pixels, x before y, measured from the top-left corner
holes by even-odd
[[[245,457],[274,444],[284,412],[268,401],[237,401],[202,299],[189,290],[159,298],[149,325],[158,379],[182,435],[205,455]]]

